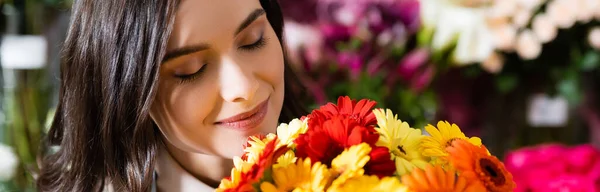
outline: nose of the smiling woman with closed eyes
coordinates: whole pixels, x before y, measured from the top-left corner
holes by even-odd
[[[221,63],[221,97],[227,102],[252,101],[259,83],[250,67],[242,66],[232,59],[224,58]]]

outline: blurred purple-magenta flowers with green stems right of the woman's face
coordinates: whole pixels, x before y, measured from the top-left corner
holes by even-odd
[[[370,98],[403,119],[423,125],[435,113],[432,52],[416,45],[421,29],[418,0],[281,1],[282,7],[313,7],[287,13],[290,60],[314,98]],[[301,5],[299,5],[301,4]],[[396,106],[396,107],[394,107]]]

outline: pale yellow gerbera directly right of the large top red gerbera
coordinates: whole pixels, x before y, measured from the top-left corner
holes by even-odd
[[[424,168],[428,163],[419,149],[424,138],[421,130],[410,128],[408,123],[399,120],[392,110],[387,109],[384,112],[383,109],[375,109],[373,113],[379,126],[375,130],[381,135],[377,145],[390,149],[398,174],[407,174],[415,167]]]

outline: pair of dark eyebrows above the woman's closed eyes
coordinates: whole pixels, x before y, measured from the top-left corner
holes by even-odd
[[[235,31],[233,36],[234,37],[237,36],[240,32],[242,32],[244,29],[248,28],[248,26],[250,26],[250,24],[252,24],[256,19],[258,19],[260,16],[262,16],[264,14],[265,14],[264,9],[256,9],[256,10],[252,11],[252,13],[250,13],[250,15],[248,15],[248,17],[246,17],[246,19],[244,19],[244,21],[239,25],[239,27],[237,28],[237,30]],[[163,57],[162,63],[173,60],[177,57],[189,55],[189,54],[203,51],[203,50],[206,50],[209,48],[210,48],[210,46],[205,43],[176,48],[176,49],[173,49],[173,50],[167,52],[167,54],[165,54],[165,56]]]

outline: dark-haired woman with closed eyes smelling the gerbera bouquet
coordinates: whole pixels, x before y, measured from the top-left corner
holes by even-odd
[[[213,190],[247,136],[304,115],[276,0],[79,0],[41,191]]]

